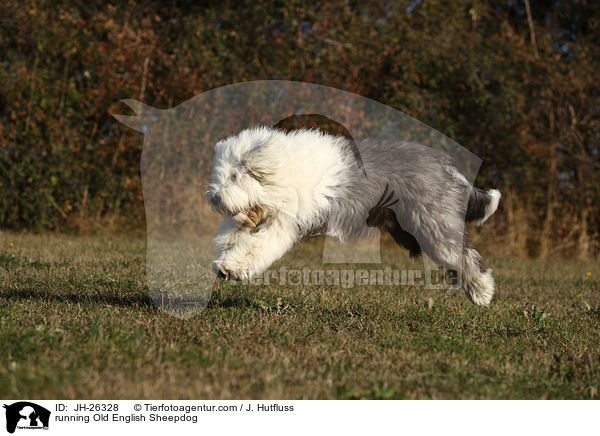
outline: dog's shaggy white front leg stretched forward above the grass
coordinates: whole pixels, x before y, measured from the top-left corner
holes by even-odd
[[[237,233],[235,245],[222,252],[214,262],[217,274],[235,280],[248,280],[265,271],[298,240],[294,225],[274,218],[259,231]]]

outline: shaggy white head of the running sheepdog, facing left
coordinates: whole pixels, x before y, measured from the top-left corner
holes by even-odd
[[[216,144],[207,199],[217,212],[234,217],[270,206],[269,178],[278,166],[271,141],[277,134],[270,128],[247,129]]]

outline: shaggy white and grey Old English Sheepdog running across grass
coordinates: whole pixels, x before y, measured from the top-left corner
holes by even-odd
[[[357,159],[356,148],[360,158]],[[494,294],[491,270],[465,238],[500,192],[473,188],[444,153],[391,139],[349,140],[319,130],[243,130],[218,142],[207,198],[226,215],[213,269],[244,280],[265,271],[305,237],[344,241],[389,232],[412,256],[460,272],[477,304]]]

